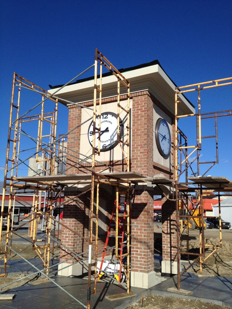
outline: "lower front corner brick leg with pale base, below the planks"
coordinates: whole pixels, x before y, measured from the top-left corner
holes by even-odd
[[[153,188],[139,187],[131,205],[131,286],[149,288],[155,284]]]

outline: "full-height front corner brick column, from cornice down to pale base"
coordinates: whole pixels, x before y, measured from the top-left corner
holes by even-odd
[[[133,98],[131,171],[153,177],[153,102],[147,92]],[[136,187],[131,210],[131,286],[154,282],[153,188]]]

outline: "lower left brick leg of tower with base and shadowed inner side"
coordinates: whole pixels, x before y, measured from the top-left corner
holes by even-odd
[[[103,186],[103,185],[102,185]],[[105,185],[105,188],[109,188],[108,185]],[[101,252],[104,249],[106,233],[108,230],[109,217],[111,216],[113,206],[114,206],[114,193],[115,188],[113,187],[113,192],[109,192],[104,188],[100,189],[99,192],[99,215],[98,215],[98,252]],[[75,197],[79,192],[70,192],[66,193],[66,200],[70,197]],[[113,194],[112,194],[113,193]],[[96,202],[96,201],[94,201]],[[90,192],[85,193],[84,195],[76,198],[75,202],[71,204],[64,205],[63,208],[63,219],[62,223],[65,226],[62,226],[61,231],[61,242],[64,246],[61,246],[60,252],[60,261],[62,262],[59,265],[59,275],[62,276],[79,276],[83,273],[88,272],[88,260],[76,264],[78,258],[73,258],[68,260],[73,256],[73,252],[81,253],[87,251],[87,253],[83,254],[83,257],[88,257],[88,240],[89,238],[89,211],[90,211]],[[95,213],[94,208],[94,213]],[[107,220],[108,219],[108,220]],[[95,220],[93,222],[93,246],[92,253],[95,252],[95,231],[96,225]],[[67,229],[69,227],[71,230]],[[76,235],[75,232],[78,232],[81,236]],[[113,231],[112,231],[113,234]],[[111,244],[111,240],[109,241],[109,245]],[[115,239],[114,239],[115,244]],[[111,252],[107,252],[107,254],[111,255]],[[102,254],[98,255],[100,258]],[[68,268],[62,270],[63,267],[69,265]]]

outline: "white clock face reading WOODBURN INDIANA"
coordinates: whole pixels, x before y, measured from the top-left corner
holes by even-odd
[[[96,128],[99,127],[99,116],[96,116]],[[122,137],[123,123],[119,118],[119,138]],[[104,112],[101,114],[101,151],[108,151],[114,148],[117,142],[117,115],[112,112]],[[88,140],[92,146],[93,136],[93,121],[88,128]],[[98,149],[99,134],[98,130],[95,133],[95,149]]]

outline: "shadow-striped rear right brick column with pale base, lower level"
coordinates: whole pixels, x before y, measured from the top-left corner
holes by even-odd
[[[162,205],[162,257],[161,276],[170,277],[173,274],[177,274],[177,222],[175,201],[166,200]]]

